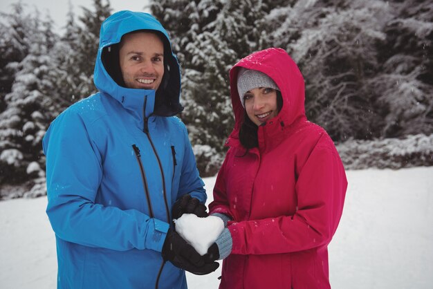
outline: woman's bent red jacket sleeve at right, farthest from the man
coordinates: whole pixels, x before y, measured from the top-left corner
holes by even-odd
[[[295,189],[293,216],[229,223],[232,254],[297,252],[331,241],[342,215],[347,179],[329,137],[322,138],[308,156]]]

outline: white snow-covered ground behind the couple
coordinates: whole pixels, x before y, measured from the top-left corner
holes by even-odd
[[[342,221],[329,247],[333,289],[432,288],[433,167],[348,171]],[[212,192],[214,178],[206,178]],[[0,288],[55,288],[55,239],[46,198],[0,202]],[[187,275],[218,288],[221,269]]]

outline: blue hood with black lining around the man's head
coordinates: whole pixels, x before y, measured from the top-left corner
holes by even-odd
[[[164,77],[156,92],[154,90],[126,88],[122,79],[118,44],[123,35],[136,30],[152,30],[164,39]],[[170,116],[183,110],[179,103],[181,94],[180,67],[172,52],[169,36],[159,21],[145,12],[127,10],[116,12],[102,23],[93,81],[99,91],[116,98],[126,108],[142,107],[143,96],[153,96],[147,103],[147,115],[154,113]],[[155,102],[155,105],[149,106],[149,102]]]

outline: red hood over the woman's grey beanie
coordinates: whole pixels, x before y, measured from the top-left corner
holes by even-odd
[[[235,120],[234,133],[239,131],[245,112],[237,91],[237,75],[240,67],[266,73],[277,84],[283,98],[282,109],[275,117],[278,123],[283,122],[284,125],[289,126],[295,120],[306,118],[304,77],[285,50],[268,48],[241,59],[230,70],[230,95]]]

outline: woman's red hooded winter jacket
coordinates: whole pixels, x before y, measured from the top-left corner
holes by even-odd
[[[258,129],[259,147],[239,142],[245,110],[239,67],[266,73],[280,88],[279,114]],[[232,253],[219,288],[331,288],[327,246],[342,215],[347,179],[333,141],[306,120],[304,78],[286,51],[268,48],[230,71],[235,127],[216,178],[211,213],[230,216]]]

